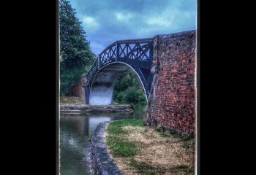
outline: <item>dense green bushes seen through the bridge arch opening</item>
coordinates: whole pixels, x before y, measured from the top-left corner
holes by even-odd
[[[115,84],[113,90],[114,103],[138,104],[146,103],[146,97],[137,74],[128,70]]]

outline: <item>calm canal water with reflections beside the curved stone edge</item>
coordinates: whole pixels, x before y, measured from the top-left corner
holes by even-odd
[[[134,106],[132,114],[93,113],[60,115],[60,161],[61,175],[86,175],[86,147],[89,133],[93,134],[99,123],[121,119],[142,119],[146,104]]]

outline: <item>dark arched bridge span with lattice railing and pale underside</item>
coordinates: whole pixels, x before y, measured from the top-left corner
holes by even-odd
[[[113,88],[118,77],[132,69],[138,74],[148,98],[153,38],[117,41],[103,50],[88,74],[83,74],[86,104],[112,104]]]

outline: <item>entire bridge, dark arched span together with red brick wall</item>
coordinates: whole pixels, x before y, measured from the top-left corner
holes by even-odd
[[[83,74],[86,104],[112,104],[116,80],[132,69],[146,94],[147,123],[195,133],[195,50],[195,30],[114,42]]]

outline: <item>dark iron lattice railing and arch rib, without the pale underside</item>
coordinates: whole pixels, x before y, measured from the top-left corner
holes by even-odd
[[[121,40],[110,44],[94,61],[87,74],[83,74],[83,88],[86,92],[86,104],[89,104],[89,93],[93,79],[102,67],[113,63],[126,63],[140,76],[148,97],[151,88],[152,76],[150,69],[152,65],[153,38]]]

